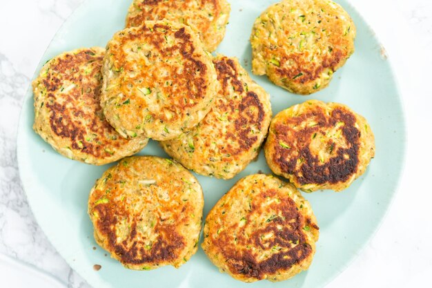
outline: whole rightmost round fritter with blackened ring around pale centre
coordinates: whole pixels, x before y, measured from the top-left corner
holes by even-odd
[[[309,100],[273,118],[264,151],[273,173],[297,188],[342,191],[366,170],[375,140],[366,119],[347,106]]]

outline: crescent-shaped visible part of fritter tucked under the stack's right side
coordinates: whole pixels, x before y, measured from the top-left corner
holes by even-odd
[[[230,179],[259,153],[271,121],[270,96],[235,58],[213,60],[220,90],[204,120],[162,148],[186,168]]]

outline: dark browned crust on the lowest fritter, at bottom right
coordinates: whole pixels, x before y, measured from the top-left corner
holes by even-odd
[[[231,273],[262,280],[267,274],[290,269],[294,264],[301,262],[313,253],[311,245],[306,242],[306,236],[302,229],[306,225],[306,220],[299,213],[295,202],[291,198],[285,197],[281,199],[282,203],[271,204],[271,207],[268,207],[266,211],[259,207],[260,202],[265,201],[267,197],[276,197],[277,194],[279,193],[275,190],[266,190],[264,193],[255,195],[251,207],[253,214],[246,215],[246,223],[251,222],[251,215],[268,213],[271,210],[282,211],[282,218],[274,218],[265,227],[255,230],[251,235],[245,236],[239,234],[237,236],[237,243],[242,247],[253,243],[256,247],[261,247],[262,249],[277,245],[282,249],[288,248],[289,250],[282,253],[274,253],[270,258],[260,262],[256,259],[256,255],[253,255],[248,249],[243,249],[242,251],[233,249],[230,232],[238,229],[238,224],[234,224],[226,229],[226,231],[222,231],[219,234],[219,238],[213,243],[216,249],[221,251],[224,258],[226,258]],[[277,229],[276,224],[282,225],[283,229]],[[314,227],[318,229],[316,224],[314,224]],[[263,241],[261,236],[266,232],[273,232],[275,237]],[[299,244],[293,247],[293,242],[297,241]],[[284,258],[285,256],[287,257]]]

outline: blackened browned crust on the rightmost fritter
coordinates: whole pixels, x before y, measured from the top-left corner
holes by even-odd
[[[293,129],[294,126],[299,126],[311,117],[317,120],[317,126],[306,127],[300,131]],[[310,113],[284,119],[283,122],[275,122],[272,126],[276,140],[273,162],[284,173],[295,175],[301,185],[344,182],[357,172],[359,165],[360,131],[355,127],[355,121],[355,115],[346,108],[336,108],[328,116],[321,107],[317,107]],[[348,148],[339,148],[335,147],[332,140],[328,140],[328,149],[336,153],[327,162],[322,163],[317,155],[311,153],[309,144],[315,133],[333,127],[337,122],[344,122],[342,135],[350,145]],[[279,141],[291,148],[280,146]],[[298,170],[296,165],[297,160],[300,159],[303,164]]]

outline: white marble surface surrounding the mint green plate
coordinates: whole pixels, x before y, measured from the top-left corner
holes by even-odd
[[[19,182],[15,141],[30,77],[50,39],[82,1],[0,1],[0,253],[35,265],[68,287],[89,286],[59,256],[35,221]],[[395,68],[409,146],[400,191],[384,224],[328,287],[431,287],[432,191],[426,183],[432,171],[432,1],[351,2],[382,40]],[[24,287],[1,282],[2,273],[6,272],[0,268],[1,287]],[[26,272],[21,274],[25,277]]]

